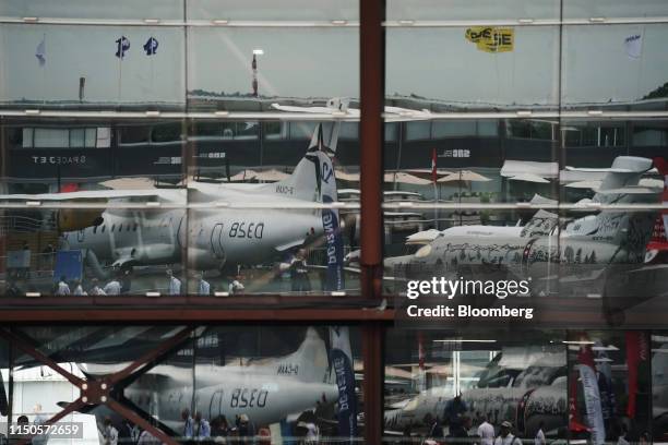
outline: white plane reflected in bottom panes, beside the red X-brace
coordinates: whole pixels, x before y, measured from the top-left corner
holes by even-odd
[[[80,366],[90,375],[104,375],[110,368]],[[338,388],[326,383],[327,375],[325,344],[309,328],[291,354],[247,364],[196,364],[194,377],[192,368],[159,364],[126,388],[124,396],[174,431],[182,430],[184,408],[208,420],[225,416],[234,422],[235,416],[247,414],[257,425],[266,425],[336,401]]]

